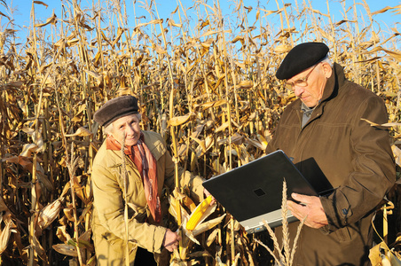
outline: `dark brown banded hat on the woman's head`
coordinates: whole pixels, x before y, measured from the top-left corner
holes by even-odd
[[[138,99],[130,95],[124,95],[107,101],[95,112],[93,119],[101,126],[106,127],[122,116],[138,113],[138,109]]]

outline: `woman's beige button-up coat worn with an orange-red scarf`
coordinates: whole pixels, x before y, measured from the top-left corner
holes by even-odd
[[[157,178],[161,202],[166,202],[163,188],[174,188],[174,163],[167,151],[164,140],[157,133],[143,131],[145,144],[157,161]],[[129,203],[129,245],[130,263],[133,264],[137,245],[154,254],[160,254],[166,228],[155,224],[145,200],[145,191],[138,168],[125,158],[128,173],[127,202]],[[202,200],[202,179],[192,176],[180,168],[180,185],[187,185],[195,201]],[[123,265],[126,233],[124,223],[125,193],[122,180],[122,157],[120,151],[106,149],[106,141],[98,150],[91,174],[94,208],[92,218],[93,240],[98,265]],[[167,207],[161,204],[162,214]],[[134,212],[133,208],[136,208]],[[163,223],[163,222],[161,222]]]

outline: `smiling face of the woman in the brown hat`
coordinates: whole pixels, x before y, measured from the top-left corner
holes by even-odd
[[[122,145],[125,135],[125,145],[136,145],[140,137],[138,116],[135,113],[123,116],[113,122],[111,135]]]

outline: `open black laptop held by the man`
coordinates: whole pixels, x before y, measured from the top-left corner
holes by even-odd
[[[311,180],[305,178],[281,150],[212,177],[204,181],[203,186],[248,233],[254,233],[265,230],[263,220],[271,228],[282,224],[284,179],[287,198],[292,192],[319,196],[333,189],[325,176],[309,176]],[[288,211],[288,223],[296,220]]]

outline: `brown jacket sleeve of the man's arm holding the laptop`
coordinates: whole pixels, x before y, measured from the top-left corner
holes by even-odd
[[[371,126],[368,121],[387,122],[387,112],[380,98],[366,98],[352,121],[350,149],[353,171],[327,198],[321,197],[328,220],[328,231],[356,223],[374,210],[395,181],[389,131]]]

